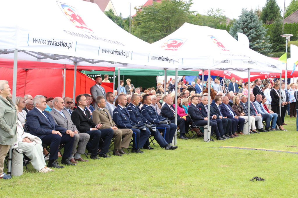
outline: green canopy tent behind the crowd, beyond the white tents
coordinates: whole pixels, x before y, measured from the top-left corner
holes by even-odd
[[[117,75],[118,68],[115,68],[116,75]],[[85,73],[87,76],[92,75],[105,75],[108,74],[110,77],[110,82],[113,81],[112,77],[114,72],[109,71],[87,71],[82,70],[82,73]],[[144,78],[144,76],[146,76]],[[142,87],[156,87],[157,76],[164,76],[164,70],[156,70],[156,69],[139,69],[139,68],[120,68],[120,80],[125,81],[126,79],[130,78],[131,83],[136,86]],[[175,76],[175,70],[167,70],[167,76]],[[198,76],[198,71],[188,71],[188,70],[178,70],[178,76]],[[115,76],[115,88],[118,84],[118,77]]]

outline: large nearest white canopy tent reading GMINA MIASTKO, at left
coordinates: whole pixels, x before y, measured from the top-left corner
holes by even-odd
[[[97,4],[3,1],[0,12],[7,16],[0,24],[0,58],[15,60],[13,87],[17,59],[72,64],[75,70],[77,65],[175,68],[177,63],[167,52],[120,28]]]

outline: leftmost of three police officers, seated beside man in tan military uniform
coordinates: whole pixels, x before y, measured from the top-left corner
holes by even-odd
[[[137,128],[137,123],[131,121],[129,112],[124,108],[126,105],[127,99],[124,94],[118,96],[118,105],[113,111],[113,120],[119,128],[130,128],[133,131],[133,148],[131,149],[132,153],[144,153],[140,151],[140,147],[143,147],[146,140],[150,136],[150,131],[145,131]]]

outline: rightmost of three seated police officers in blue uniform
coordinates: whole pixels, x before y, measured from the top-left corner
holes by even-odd
[[[142,115],[146,118],[150,123],[156,124],[156,128],[164,129],[163,137],[167,143],[172,143],[173,137],[177,130],[177,125],[171,123],[167,118],[161,117],[157,114],[156,110],[150,106],[151,104],[151,97],[149,94],[143,96],[143,103],[142,106]]]

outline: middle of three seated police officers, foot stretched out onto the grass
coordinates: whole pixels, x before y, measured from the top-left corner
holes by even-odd
[[[130,114],[131,120],[138,124],[146,124],[146,130],[149,130],[151,132],[151,136],[154,136],[159,146],[164,148],[165,150],[174,150],[178,148],[177,146],[171,146],[170,144],[168,144],[157,129],[156,131],[153,131],[153,129],[151,128],[152,124],[145,117],[142,116],[142,111],[138,106],[139,101],[139,95],[134,94],[131,96],[131,102],[126,107]],[[150,147],[150,142],[148,139],[143,148],[149,150],[153,149],[152,147]]]

